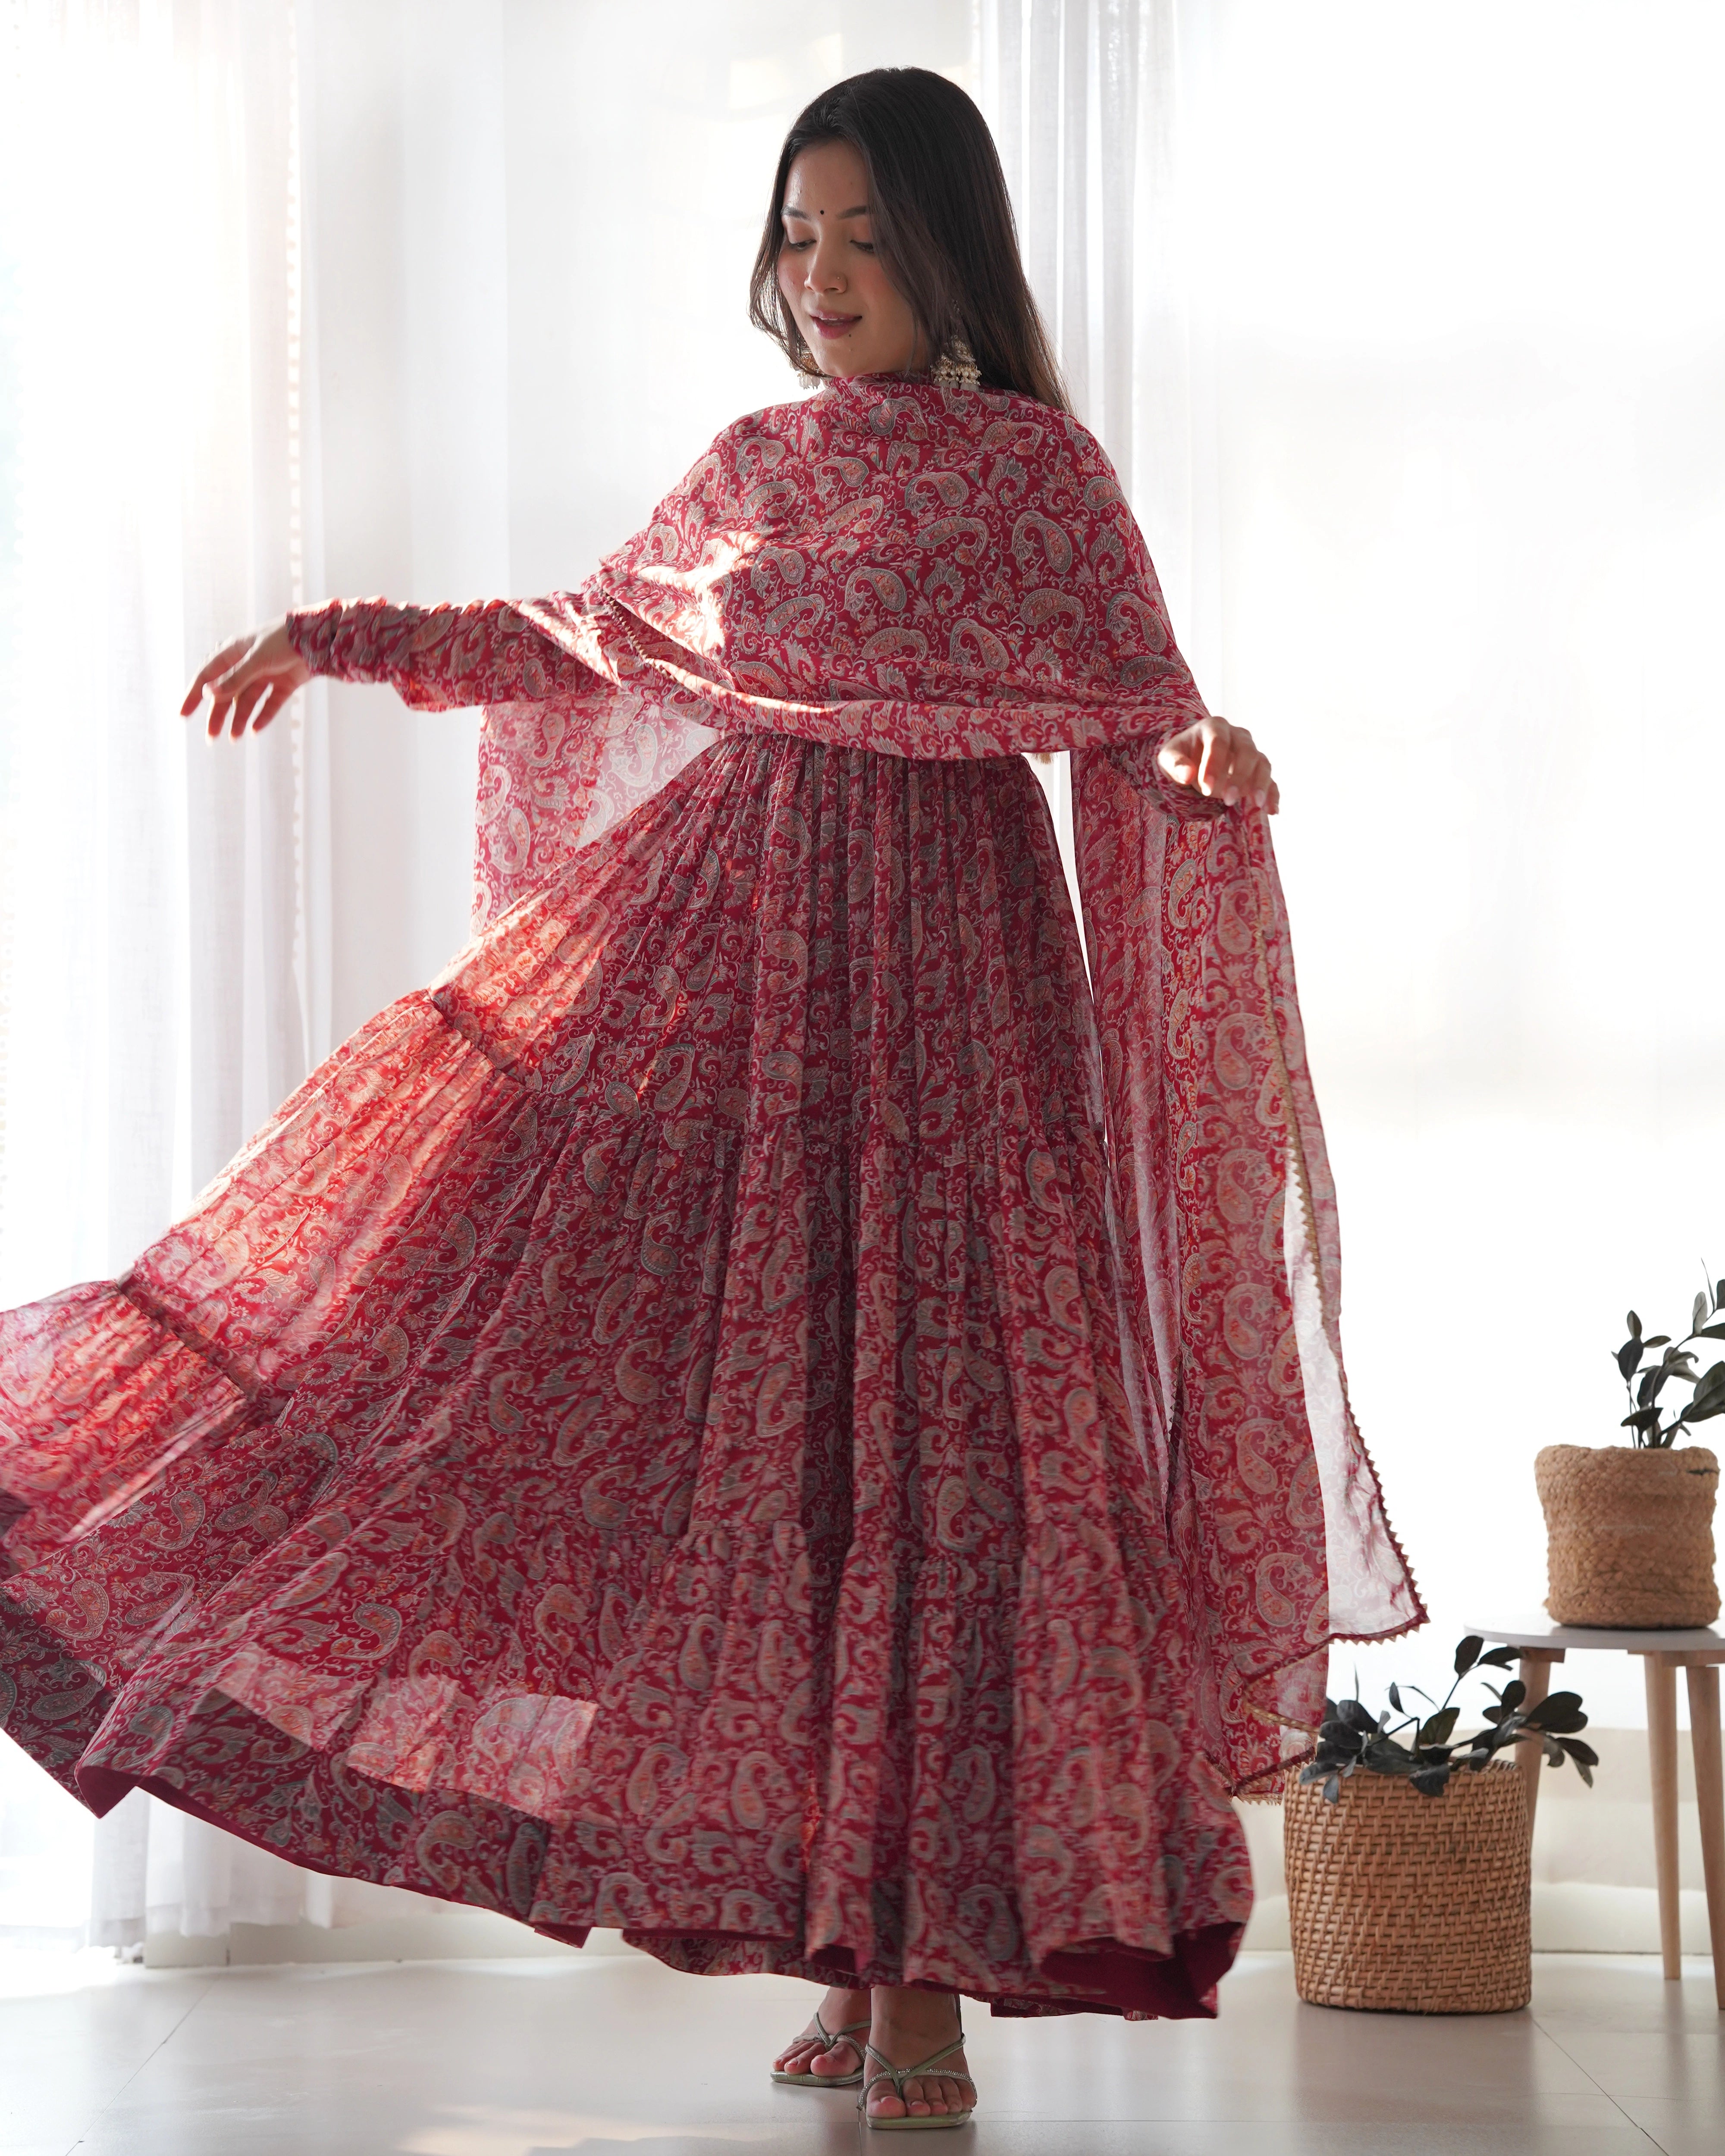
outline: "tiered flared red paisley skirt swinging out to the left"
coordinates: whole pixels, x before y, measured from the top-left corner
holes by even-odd
[[[1104,1169],[1024,761],[720,742],[0,1322],[9,1731],[679,1968],[1210,2012]]]

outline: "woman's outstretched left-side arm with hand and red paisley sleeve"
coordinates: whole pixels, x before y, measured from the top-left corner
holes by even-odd
[[[390,606],[332,599],[224,645],[185,692],[185,718],[209,690],[209,737],[261,733],[313,675],[388,681],[403,703],[451,709],[582,694],[597,677],[507,599],[483,606]]]

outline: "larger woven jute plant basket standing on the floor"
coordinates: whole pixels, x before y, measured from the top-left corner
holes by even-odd
[[[1514,1766],[1421,1796],[1354,1772],[1283,1796],[1294,1988],[1315,2007],[1512,2014],[1533,1992],[1527,1796]]]

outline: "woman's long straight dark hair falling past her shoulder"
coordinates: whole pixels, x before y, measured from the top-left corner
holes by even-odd
[[[1070,412],[1061,369],[1018,259],[1007,179],[988,121],[925,67],[873,67],[806,106],[778,151],[761,250],[748,280],[748,319],[798,373],[819,373],[778,291],[781,213],[796,157],[850,142],[869,175],[875,250],[910,302],[929,360],[966,343],[988,388],[1020,390]]]

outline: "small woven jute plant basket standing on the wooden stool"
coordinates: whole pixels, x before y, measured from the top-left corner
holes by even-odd
[[[1548,1445],[1546,1611],[1559,1623],[1645,1630],[1712,1623],[1719,1460],[1703,1445]]]

